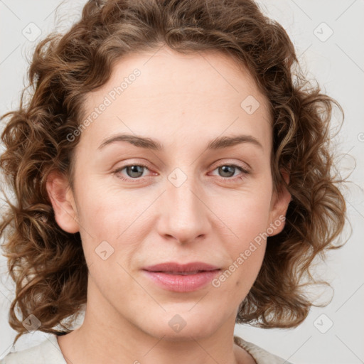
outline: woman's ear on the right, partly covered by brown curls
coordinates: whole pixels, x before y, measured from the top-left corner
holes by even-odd
[[[281,170],[282,177],[284,181],[286,181],[287,185],[289,184],[289,174],[285,170]],[[288,205],[292,200],[291,193],[287,190],[285,186],[280,188],[280,191],[276,193],[274,191],[271,206],[270,206],[270,213],[269,213],[269,225],[267,226],[267,232],[269,236],[277,235],[279,232],[282,232],[285,220],[286,220],[286,213],[288,209]],[[273,232],[271,233],[271,231]]]

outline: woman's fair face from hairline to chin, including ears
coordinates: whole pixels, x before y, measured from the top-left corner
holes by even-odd
[[[87,309],[171,340],[233,326],[266,236],[282,230],[289,203],[287,193],[273,193],[268,101],[227,56],[164,47],[114,65],[109,81],[87,95],[85,119],[95,108],[77,144],[74,190],[52,198],[60,227],[80,231]],[[48,192],[60,196],[62,183],[49,182]],[[144,270],[164,262],[220,270],[195,277]]]

